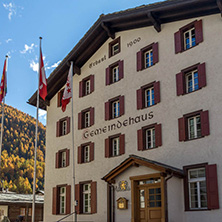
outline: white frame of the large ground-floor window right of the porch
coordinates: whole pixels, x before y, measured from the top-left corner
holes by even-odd
[[[204,170],[205,168],[196,168],[196,169],[190,169],[188,170],[188,188],[189,188],[189,206],[190,209],[207,209],[207,207],[202,207],[201,206],[201,188],[200,188],[200,183],[205,181],[206,184],[206,171],[205,171],[205,176],[204,177],[197,177],[197,178],[190,178],[190,172],[192,171],[198,171],[199,170]],[[192,196],[191,196],[191,184],[195,183],[197,186],[197,202],[198,202],[198,207],[192,207]],[[207,188],[206,188],[207,189]],[[206,204],[207,204],[207,190],[206,190]]]

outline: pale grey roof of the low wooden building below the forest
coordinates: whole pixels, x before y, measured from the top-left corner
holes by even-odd
[[[37,204],[44,203],[43,195],[35,195]],[[32,194],[17,194],[17,193],[0,193],[0,204],[2,203],[32,203]]]

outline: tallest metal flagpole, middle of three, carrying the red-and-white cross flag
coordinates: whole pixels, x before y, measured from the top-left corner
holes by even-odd
[[[40,50],[41,50],[41,40],[40,39]],[[35,161],[34,161],[34,178],[33,178],[33,200],[32,200],[32,222],[35,222],[35,185],[36,185],[36,161],[37,161],[37,138],[38,138],[38,119],[39,119],[39,78],[40,78],[40,53],[39,53],[39,73],[38,73],[38,91],[37,91],[37,110],[36,110],[36,127],[35,127]]]

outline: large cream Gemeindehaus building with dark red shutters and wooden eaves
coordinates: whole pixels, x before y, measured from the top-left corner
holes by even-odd
[[[222,219],[221,12],[169,0],[102,15],[51,73],[44,221],[73,212],[73,164],[78,221]]]

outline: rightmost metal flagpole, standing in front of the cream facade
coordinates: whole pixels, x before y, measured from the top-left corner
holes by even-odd
[[[71,61],[71,70],[72,70],[72,78],[71,78],[71,89],[72,89],[72,159],[73,159],[73,212],[74,212],[74,221],[77,222],[77,214],[75,208],[75,150],[74,150],[74,117],[73,117],[73,61]],[[79,203],[78,203],[79,204]]]

